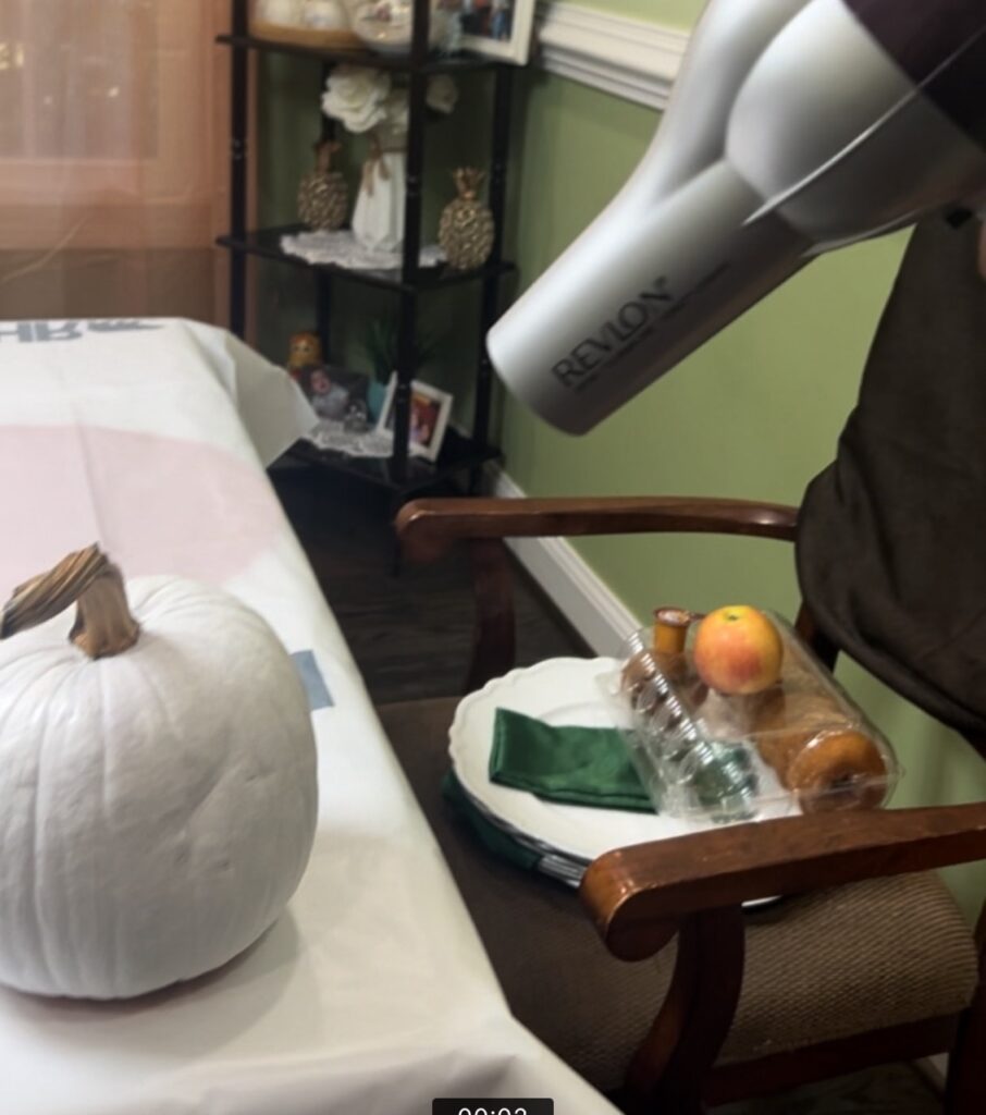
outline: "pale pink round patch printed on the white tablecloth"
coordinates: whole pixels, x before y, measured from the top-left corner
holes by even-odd
[[[127,576],[221,584],[283,525],[266,476],[214,446],[98,426],[0,426],[0,602],[92,542]]]

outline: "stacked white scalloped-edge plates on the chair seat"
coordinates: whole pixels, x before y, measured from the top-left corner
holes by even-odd
[[[537,853],[540,871],[573,886],[604,852],[694,828],[657,814],[562,805],[490,782],[494,720],[498,708],[507,708],[555,727],[624,727],[616,702],[607,697],[618,670],[613,658],[553,658],[512,670],[467,697],[449,731],[452,768],[472,805],[521,847]]]

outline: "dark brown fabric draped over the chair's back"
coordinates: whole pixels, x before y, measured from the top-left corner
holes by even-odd
[[[808,488],[801,591],[892,689],[986,730],[986,282],[979,225],[919,225],[834,464]]]

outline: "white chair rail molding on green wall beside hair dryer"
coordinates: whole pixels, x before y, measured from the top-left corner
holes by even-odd
[[[689,32],[566,0],[538,0],[537,64],[616,97],[664,109]]]

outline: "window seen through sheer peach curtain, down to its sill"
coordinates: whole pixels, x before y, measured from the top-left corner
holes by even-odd
[[[0,250],[212,243],[225,7],[0,0]]]

